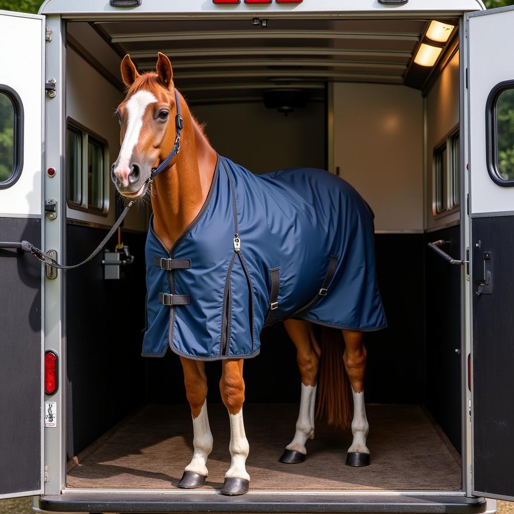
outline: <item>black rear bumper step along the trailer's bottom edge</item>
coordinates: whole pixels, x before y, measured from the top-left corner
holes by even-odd
[[[43,496],[39,506],[60,512],[409,512],[413,514],[480,514],[486,510],[483,498],[457,495],[390,493],[313,494],[249,493],[226,497],[218,492],[127,493],[81,492]]]

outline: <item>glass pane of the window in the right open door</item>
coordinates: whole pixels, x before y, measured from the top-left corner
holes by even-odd
[[[503,180],[514,180],[514,88],[496,100],[496,168]]]

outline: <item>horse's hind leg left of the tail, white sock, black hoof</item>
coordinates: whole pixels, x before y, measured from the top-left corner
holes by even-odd
[[[284,322],[284,326],[297,348],[298,368],[302,377],[302,392],[295,436],[286,446],[279,461],[284,464],[298,464],[305,460],[307,439],[314,438],[314,408],[320,348],[314,337],[312,323],[287,320]]]

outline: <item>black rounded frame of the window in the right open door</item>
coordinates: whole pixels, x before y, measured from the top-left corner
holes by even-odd
[[[502,188],[514,186],[514,179],[502,178],[498,169],[497,105],[500,95],[507,89],[514,89],[514,80],[504,80],[496,84],[487,97],[485,108],[487,173],[489,173],[491,180]]]

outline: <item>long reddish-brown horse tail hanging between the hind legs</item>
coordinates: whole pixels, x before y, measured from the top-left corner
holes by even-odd
[[[316,416],[326,415],[329,425],[348,428],[353,417],[350,379],[343,362],[344,339],[340,330],[321,327],[318,374],[318,409]]]

